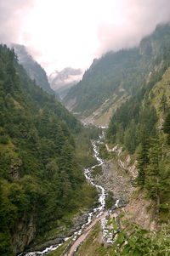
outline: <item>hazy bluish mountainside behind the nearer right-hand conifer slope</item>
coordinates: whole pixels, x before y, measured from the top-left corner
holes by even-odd
[[[169,42],[169,24],[160,25],[140,42],[139,47],[109,52],[94,60],[82,81],[65,96],[65,106],[77,117],[108,124],[113,111],[136,94],[161,64],[161,52]]]

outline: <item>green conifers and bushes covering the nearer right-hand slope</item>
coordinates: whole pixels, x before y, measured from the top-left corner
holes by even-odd
[[[162,40],[163,31],[159,32]],[[169,28],[166,37],[169,37]],[[138,176],[134,185],[139,190],[144,189],[146,198],[152,199],[155,210],[153,218],[160,230],[150,232],[133,223],[123,224],[120,230],[114,221],[114,236],[117,235],[117,239],[111,255],[170,253],[169,42],[165,40],[156,54],[154,70],[150,72],[143,86],[113,114],[107,131],[108,143],[122,146],[137,160]]]

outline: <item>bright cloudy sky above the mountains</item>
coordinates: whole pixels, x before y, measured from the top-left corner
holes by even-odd
[[[1,0],[0,43],[25,44],[48,74],[87,69],[169,20],[169,0]]]

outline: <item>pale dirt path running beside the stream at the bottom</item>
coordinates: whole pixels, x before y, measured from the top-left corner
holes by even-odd
[[[107,212],[105,212],[104,214],[99,216],[99,218],[94,219],[94,221],[91,223],[91,225],[88,225],[86,230],[83,231],[82,235],[79,236],[78,239],[73,243],[73,245],[71,246],[70,251],[68,253],[65,253],[65,256],[71,256],[72,253],[74,252],[74,250],[87,238],[87,236],[91,232],[91,230],[94,227],[94,225],[96,224],[96,222],[100,219],[105,218],[106,215],[107,215]]]

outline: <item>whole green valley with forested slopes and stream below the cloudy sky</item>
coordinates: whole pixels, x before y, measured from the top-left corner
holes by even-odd
[[[168,255],[170,25],[94,60],[62,103],[15,48],[0,46],[1,254]]]

